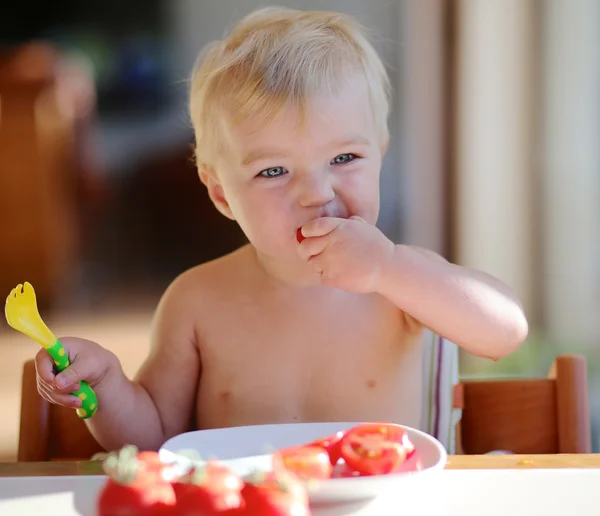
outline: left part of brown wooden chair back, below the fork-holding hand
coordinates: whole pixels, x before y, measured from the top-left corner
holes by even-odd
[[[35,364],[33,360],[25,362],[17,460],[89,460],[103,451],[75,410],[49,403],[39,395]]]

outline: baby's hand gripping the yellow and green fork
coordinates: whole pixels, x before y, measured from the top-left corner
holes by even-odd
[[[120,369],[117,357],[95,342],[75,337],[61,337],[71,364],[58,373],[52,357],[45,349],[35,356],[37,386],[40,395],[51,403],[69,408],[81,407],[81,400],[71,392],[85,380],[98,394],[98,387]]]

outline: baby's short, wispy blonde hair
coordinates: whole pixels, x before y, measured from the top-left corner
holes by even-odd
[[[268,122],[289,103],[304,113],[312,95],[335,94],[356,74],[366,80],[378,135],[387,142],[389,78],[354,18],[274,7],[251,13],[225,39],[209,44],[194,67],[190,116],[197,163],[222,151],[224,114],[231,123],[251,116]]]

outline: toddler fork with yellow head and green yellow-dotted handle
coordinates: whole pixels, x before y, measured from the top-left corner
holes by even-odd
[[[19,284],[11,290],[6,298],[4,313],[12,328],[35,340],[48,351],[58,371],[69,367],[69,357],[65,349],[40,317],[35,291],[30,283]],[[81,399],[81,408],[77,409],[77,415],[87,419],[98,410],[98,400],[87,382],[81,381],[79,385],[79,390],[71,394]]]

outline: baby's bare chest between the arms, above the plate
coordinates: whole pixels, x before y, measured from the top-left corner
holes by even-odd
[[[419,339],[382,299],[249,304],[218,323],[201,351],[201,427],[417,417]]]

